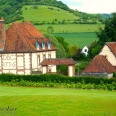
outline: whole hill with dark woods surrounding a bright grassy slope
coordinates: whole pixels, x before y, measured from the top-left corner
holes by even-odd
[[[36,17],[38,15],[35,14],[40,15],[39,17]],[[104,18],[101,14],[88,14],[73,10],[66,4],[57,0],[0,0],[0,17],[3,17],[6,20],[6,23],[12,23],[18,20],[22,21],[25,18],[29,18],[33,21],[39,19],[39,21],[42,21],[42,24],[45,23],[44,21],[51,21],[51,19],[52,24],[64,24],[67,22],[74,24],[104,23]],[[44,20],[42,20],[41,17]]]

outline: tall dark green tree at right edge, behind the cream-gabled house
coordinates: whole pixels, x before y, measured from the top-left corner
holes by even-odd
[[[116,41],[116,13],[113,13],[112,18],[106,19],[104,29],[100,28],[96,34],[99,38],[98,43],[102,46],[105,42]]]

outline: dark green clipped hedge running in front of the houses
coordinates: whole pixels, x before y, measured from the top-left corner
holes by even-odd
[[[14,75],[14,74],[0,74],[1,82],[11,82],[15,80],[20,82],[31,81],[31,82],[54,82],[54,83],[82,83],[82,84],[95,84],[98,85],[101,82],[103,84],[116,83],[116,78],[107,79],[99,77],[68,77],[58,74],[42,74],[42,75]]]

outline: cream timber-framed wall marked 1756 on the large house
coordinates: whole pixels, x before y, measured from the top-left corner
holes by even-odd
[[[41,67],[39,64],[44,59],[43,55],[45,58],[56,58],[55,51],[0,54],[0,73],[31,74]],[[56,66],[52,67],[52,71],[56,72]]]

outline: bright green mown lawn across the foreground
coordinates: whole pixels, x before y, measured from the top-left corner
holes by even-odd
[[[116,92],[0,86],[0,116],[8,107],[14,116],[115,116]]]

